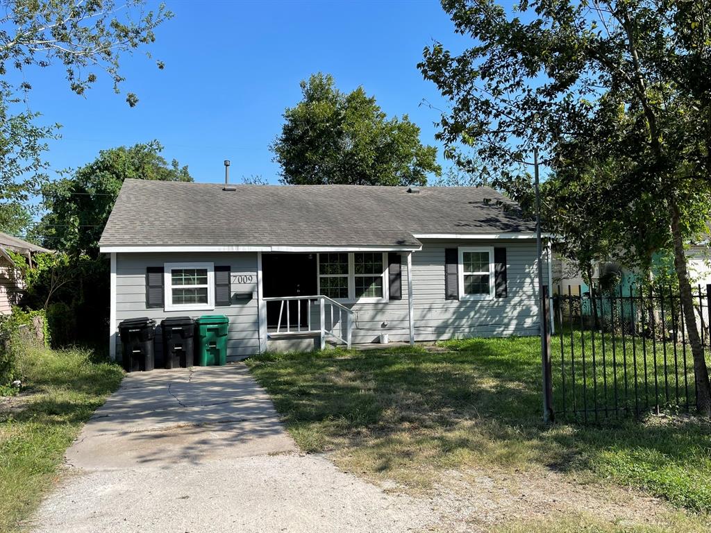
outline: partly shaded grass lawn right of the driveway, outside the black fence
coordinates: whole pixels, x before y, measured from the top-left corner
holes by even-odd
[[[555,343],[555,338],[554,338]],[[426,488],[451,468],[572,473],[711,512],[711,424],[688,416],[545,426],[540,340],[254,357],[299,446],[342,468]]]

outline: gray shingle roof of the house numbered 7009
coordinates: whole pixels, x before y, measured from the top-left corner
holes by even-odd
[[[491,188],[235,185],[127,180],[102,247],[415,246],[413,234],[533,232]]]

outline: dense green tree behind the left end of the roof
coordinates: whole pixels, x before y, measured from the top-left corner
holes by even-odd
[[[37,228],[46,247],[97,257],[101,233],[124,180],[193,181],[188,167],[175,159],[169,164],[162,150],[158,141],[102,150],[71,176],[48,183],[43,189],[47,214]]]

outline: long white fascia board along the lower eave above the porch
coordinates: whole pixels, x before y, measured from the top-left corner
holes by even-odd
[[[141,253],[141,252],[418,252],[419,246],[102,246],[100,252]]]

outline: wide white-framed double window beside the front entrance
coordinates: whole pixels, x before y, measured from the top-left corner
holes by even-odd
[[[319,254],[319,294],[345,302],[387,301],[383,252]]]

